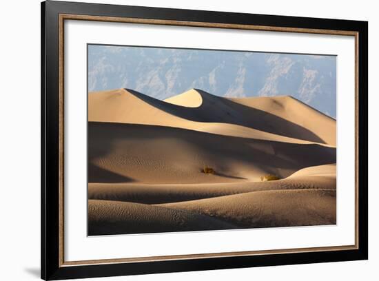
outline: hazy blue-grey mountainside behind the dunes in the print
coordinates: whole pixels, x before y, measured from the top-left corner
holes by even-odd
[[[130,88],[165,99],[291,95],[336,118],[336,56],[88,46],[88,90]]]

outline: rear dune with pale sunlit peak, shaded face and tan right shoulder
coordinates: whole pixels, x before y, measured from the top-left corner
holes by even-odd
[[[292,96],[221,98],[192,89],[165,101],[183,107],[197,105],[198,111],[202,112],[214,112],[214,107],[217,107],[221,116],[216,118],[224,123],[336,145],[336,121]],[[201,116],[204,120],[215,118],[204,114]]]

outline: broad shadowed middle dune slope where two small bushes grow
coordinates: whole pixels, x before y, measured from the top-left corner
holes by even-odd
[[[336,163],[336,149],[196,132],[173,127],[90,122],[89,182],[92,169],[117,176],[103,183],[222,183],[287,177],[304,167]],[[215,174],[203,174],[203,167]],[[108,181],[107,181],[108,180]]]

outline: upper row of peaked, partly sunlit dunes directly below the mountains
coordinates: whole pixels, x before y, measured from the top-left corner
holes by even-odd
[[[201,90],[189,90],[168,98],[166,102],[133,90],[92,92],[88,98],[88,120],[163,125],[272,141],[336,145],[335,136],[329,136],[329,127],[333,123],[334,128],[336,126],[334,119],[289,96],[267,97],[267,102],[262,103],[266,106],[260,107],[252,101],[254,99],[234,101]],[[296,118],[293,117],[294,112],[297,112]],[[302,120],[300,125],[299,116]]]

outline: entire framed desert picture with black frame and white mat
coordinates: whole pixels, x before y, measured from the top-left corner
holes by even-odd
[[[41,278],[368,258],[367,22],[41,19]]]

